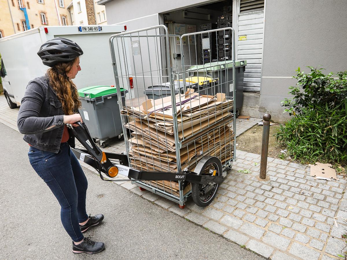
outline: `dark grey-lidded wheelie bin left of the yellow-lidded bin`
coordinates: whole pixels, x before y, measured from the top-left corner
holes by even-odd
[[[197,83],[191,83],[189,81],[175,80],[175,94],[183,94],[187,88],[197,88]],[[170,82],[162,83],[161,85],[153,85],[146,87],[143,94],[146,94],[147,98],[158,99],[167,96],[171,96]]]

